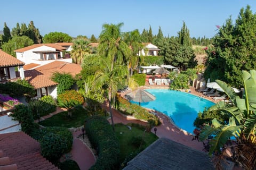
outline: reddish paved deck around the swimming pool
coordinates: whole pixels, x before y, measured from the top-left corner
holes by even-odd
[[[165,86],[165,85],[145,85],[143,87],[140,87],[142,89],[169,89],[169,86]],[[127,91],[128,92],[128,91]],[[120,93],[121,96],[124,96],[127,92],[123,92]],[[190,88],[190,94],[192,95],[196,95],[196,96],[202,96],[202,93],[197,92],[194,88]],[[205,99],[208,99],[210,101],[213,101],[214,103],[216,103],[217,101],[213,100],[210,97],[204,97]],[[107,104],[105,103],[105,109],[108,110]],[[127,124],[127,123],[139,123],[142,125],[145,125],[145,122],[141,122],[138,120],[132,120],[131,118],[127,118],[124,117],[121,113],[119,113],[118,111],[116,111],[115,109],[112,109],[113,111],[113,118],[114,118],[114,123],[123,123],[123,124]],[[155,111],[156,112],[156,111]],[[199,142],[197,140],[192,140],[193,139],[193,134],[189,134],[186,131],[182,131],[181,129],[179,129],[177,126],[175,126],[175,124],[172,123],[172,121],[170,120],[169,117],[167,117],[166,115],[164,115],[161,112],[156,112],[157,116],[160,118],[162,124],[157,126],[157,131],[156,131],[156,135],[161,138],[161,137],[165,137],[165,138],[169,138],[173,141],[182,143],[183,145],[186,145],[188,147],[197,149],[197,150],[201,150],[201,151],[205,151],[204,150],[204,146],[202,142]],[[111,120],[109,119],[109,122],[111,123]],[[151,129],[151,132],[154,133],[154,128]]]

